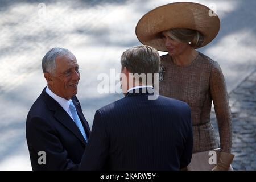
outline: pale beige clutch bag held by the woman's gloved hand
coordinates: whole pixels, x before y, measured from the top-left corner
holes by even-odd
[[[215,153],[216,152],[216,153]],[[192,154],[191,163],[187,166],[188,171],[211,171],[220,156],[220,148],[214,150],[196,152]],[[214,158],[216,158],[214,160]],[[230,165],[229,171],[233,171]]]

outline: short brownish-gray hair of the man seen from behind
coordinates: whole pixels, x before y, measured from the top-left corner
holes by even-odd
[[[121,56],[122,69],[126,67],[130,73],[159,73],[160,56],[150,46],[135,46],[127,49]]]

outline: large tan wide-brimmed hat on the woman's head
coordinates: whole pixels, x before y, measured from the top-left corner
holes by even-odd
[[[175,2],[156,7],[142,16],[136,26],[136,36],[142,44],[166,51],[162,32],[172,28],[189,28],[204,35],[204,42],[195,48],[210,43],[220,30],[220,19],[207,6],[193,2]]]

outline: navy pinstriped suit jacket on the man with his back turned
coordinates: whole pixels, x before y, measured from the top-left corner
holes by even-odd
[[[96,111],[81,170],[179,170],[192,157],[190,107],[130,94]]]

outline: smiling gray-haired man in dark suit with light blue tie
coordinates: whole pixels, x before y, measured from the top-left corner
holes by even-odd
[[[47,87],[32,105],[26,137],[33,170],[76,170],[90,128],[77,100],[80,79],[76,57],[52,48],[42,61]]]

